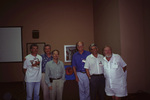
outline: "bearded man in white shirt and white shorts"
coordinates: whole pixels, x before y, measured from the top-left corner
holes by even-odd
[[[104,47],[103,54],[106,94],[112,96],[113,100],[121,100],[121,97],[127,96],[127,64],[120,55],[112,53],[110,46]]]

